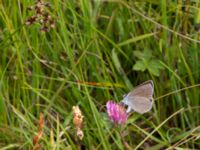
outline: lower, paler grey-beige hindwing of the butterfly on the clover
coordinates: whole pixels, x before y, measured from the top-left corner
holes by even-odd
[[[136,111],[140,114],[150,111],[153,106],[152,99],[148,99],[146,97],[140,97],[140,96],[129,97],[129,102],[131,110]]]

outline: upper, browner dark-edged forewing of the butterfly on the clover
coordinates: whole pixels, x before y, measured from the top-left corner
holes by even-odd
[[[146,97],[148,99],[152,99],[153,92],[154,92],[153,81],[149,80],[149,81],[144,82],[143,84],[140,84],[135,89],[133,89],[128,94],[128,96],[129,97],[141,96],[141,97]]]

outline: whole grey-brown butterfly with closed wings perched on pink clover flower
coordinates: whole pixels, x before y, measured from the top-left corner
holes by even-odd
[[[152,80],[144,82],[129,92],[122,100],[122,103],[128,106],[127,113],[135,111],[143,114],[150,111],[153,106],[153,92]]]

